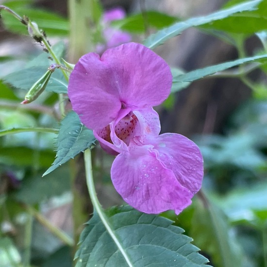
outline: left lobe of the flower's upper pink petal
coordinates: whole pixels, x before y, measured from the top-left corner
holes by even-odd
[[[121,109],[113,70],[100,56],[89,53],[80,58],[69,77],[68,96],[73,110],[90,129],[102,129]]]

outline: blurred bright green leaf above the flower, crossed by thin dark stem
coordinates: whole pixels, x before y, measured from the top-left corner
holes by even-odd
[[[146,12],[147,23],[150,27],[156,29],[161,29],[167,27],[177,21],[176,17],[168,16],[167,14],[159,13],[157,11],[147,11]],[[143,33],[145,32],[143,14],[134,14],[132,16],[126,17],[120,20],[112,21],[111,25],[117,27],[123,31],[128,31],[131,33]]]

